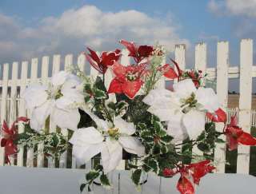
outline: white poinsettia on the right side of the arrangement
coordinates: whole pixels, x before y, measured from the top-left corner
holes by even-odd
[[[150,113],[167,122],[173,142],[196,139],[205,128],[206,112],[214,113],[220,106],[213,89],[197,89],[191,79],[175,83],[174,91],[153,89],[143,101]]]

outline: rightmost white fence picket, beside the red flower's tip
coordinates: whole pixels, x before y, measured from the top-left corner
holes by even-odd
[[[250,133],[250,109],[252,100],[253,41],[243,39],[240,43],[240,97],[239,126]],[[250,146],[238,146],[237,172],[249,174]]]

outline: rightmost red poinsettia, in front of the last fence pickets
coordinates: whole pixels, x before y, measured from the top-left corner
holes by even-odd
[[[226,126],[225,135],[230,151],[238,148],[238,144],[256,145],[256,138],[238,127],[238,120],[236,116],[231,117],[230,124]]]

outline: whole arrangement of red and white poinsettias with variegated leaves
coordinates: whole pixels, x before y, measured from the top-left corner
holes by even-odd
[[[90,192],[96,179],[110,187],[108,173],[126,159],[137,187],[142,173],[166,178],[180,174],[178,191],[193,194],[194,184],[214,170],[211,153],[216,144],[225,143],[222,136],[230,150],[239,144],[256,145],[256,139],[239,128],[236,117],[227,124],[214,89],[206,88],[206,74],[180,69],[171,59],[174,66],[163,65],[166,50],[162,46],[120,43],[128,49],[132,64],[120,64],[119,49],[98,55],[88,48],[84,54],[101,73],[97,78],[73,68],[54,74],[49,85],[26,88],[22,97],[30,119],[19,117],[10,128],[6,122],[2,125],[1,146],[7,163],[18,146],[43,144],[42,152],[52,158],[59,158],[72,146],[79,164],[100,158],[86,173],[81,191]],[[113,74],[109,86],[107,72]],[[174,80],[171,89],[157,86],[163,77]],[[217,122],[224,124],[222,132],[215,130]],[[18,133],[19,123],[23,123],[24,133]],[[62,129],[68,129],[70,136]],[[204,154],[198,156],[194,147]]]

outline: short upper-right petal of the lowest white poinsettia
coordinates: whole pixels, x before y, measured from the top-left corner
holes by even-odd
[[[124,121],[120,117],[114,118],[114,125],[116,128],[119,129],[120,133],[124,133],[127,135],[132,135],[135,133],[135,126],[134,123]]]

